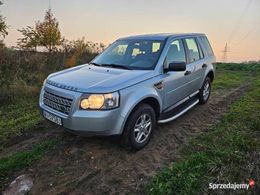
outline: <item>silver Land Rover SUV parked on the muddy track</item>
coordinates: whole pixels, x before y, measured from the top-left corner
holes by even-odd
[[[157,123],[207,102],[214,62],[204,34],[121,38],[89,64],[49,75],[39,105],[45,118],[70,132],[121,135],[138,150]]]

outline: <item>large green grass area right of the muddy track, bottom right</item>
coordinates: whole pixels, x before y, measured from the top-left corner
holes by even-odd
[[[208,189],[209,183],[259,179],[255,170],[259,158],[252,158],[260,151],[259,118],[260,79],[255,77],[251,91],[207,133],[190,140],[182,149],[181,158],[151,179],[146,193],[208,194],[213,192]]]

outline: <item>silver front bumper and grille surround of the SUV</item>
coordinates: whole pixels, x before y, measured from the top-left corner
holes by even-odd
[[[73,99],[68,115],[54,110],[43,103],[44,91]],[[62,119],[63,127],[70,132],[82,135],[118,135],[124,127],[125,118],[121,116],[120,107],[112,110],[79,110],[81,93],[57,88],[46,84],[40,95],[39,106],[43,110]]]

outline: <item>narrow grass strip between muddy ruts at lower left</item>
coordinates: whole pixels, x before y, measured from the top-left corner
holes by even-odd
[[[36,161],[42,159],[44,155],[54,148],[57,141],[54,139],[44,140],[34,145],[30,150],[14,153],[0,159],[0,191],[3,190],[7,182],[8,175],[15,171],[20,171]]]

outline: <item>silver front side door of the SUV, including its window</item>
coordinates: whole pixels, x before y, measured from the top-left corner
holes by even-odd
[[[173,40],[168,48],[164,67],[168,67],[174,61],[186,63],[186,59],[183,41],[181,39]],[[185,74],[186,71],[167,71],[164,73],[164,110],[189,95],[189,75]]]

